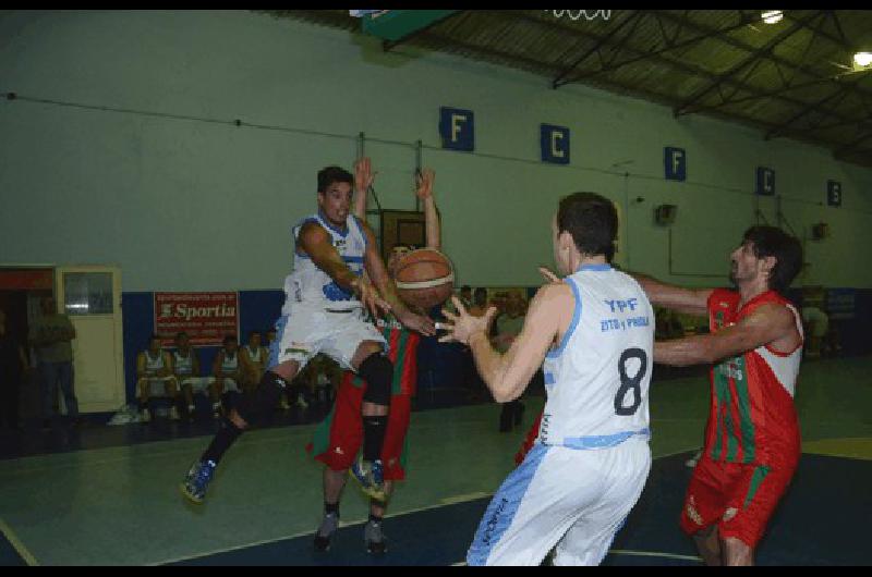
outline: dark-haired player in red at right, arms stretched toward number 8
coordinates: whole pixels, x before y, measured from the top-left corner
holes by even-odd
[[[703,454],[681,512],[681,528],[708,565],[753,564],[800,455],[794,392],[802,318],[783,294],[802,266],[802,246],[780,229],[752,226],[730,260],[736,290],[634,275],[653,303],[708,316],[710,334],[654,346],[656,363],[713,365]]]

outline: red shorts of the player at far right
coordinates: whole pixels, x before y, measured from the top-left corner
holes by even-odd
[[[756,547],[790,484],[796,466],[796,462],[779,465],[715,463],[703,454],[685,495],[681,529],[693,535],[717,524],[722,539],[734,537],[750,548]],[[730,516],[732,510],[735,515]]]

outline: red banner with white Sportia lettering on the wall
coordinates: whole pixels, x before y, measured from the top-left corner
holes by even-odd
[[[193,346],[220,346],[239,334],[239,293],[155,293],[155,333],[173,346],[184,331]]]

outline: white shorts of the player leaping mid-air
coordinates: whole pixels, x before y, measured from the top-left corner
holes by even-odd
[[[320,307],[291,305],[289,314],[276,322],[267,367],[295,360],[302,370],[312,357],[324,353],[343,369],[353,370],[351,359],[364,341],[375,341],[387,348],[385,337],[366,320],[363,308],[330,312]]]

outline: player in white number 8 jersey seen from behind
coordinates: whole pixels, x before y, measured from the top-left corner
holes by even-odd
[[[457,315],[441,341],[469,344],[494,398],[518,398],[543,365],[547,402],[538,438],[494,495],[470,565],[596,565],[639,500],[651,469],[649,383],[654,312],[632,278],[611,268],[617,212],[576,193],[553,222],[568,274],[540,288],[505,355],[487,334],[496,309]],[[556,279],[555,279],[556,280]]]

